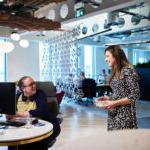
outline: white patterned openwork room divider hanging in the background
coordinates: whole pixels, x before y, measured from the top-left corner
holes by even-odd
[[[77,45],[80,28],[63,32],[54,38],[44,41],[40,55],[40,78],[44,81],[59,80],[65,82],[68,75],[78,74],[78,56],[81,50]]]

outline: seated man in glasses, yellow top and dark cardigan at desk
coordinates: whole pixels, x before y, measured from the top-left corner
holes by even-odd
[[[47,97],[41,90],[37,90],[34,80],[30,76],[24,76],[18,81],[20,93],[17,93],[17,112],[13,117],[37,117],[53,124],[53,133],[47,139],[32,144],[25,144],[21,149],[47,150],[51,141],[55,140],[60,133],[60,125],[56,117],[49,112]],[[34,147],[35,146],[35,147]],[[34,147],[34,148],[33,148]],[[12,149],[12,148],[9,148]]]

